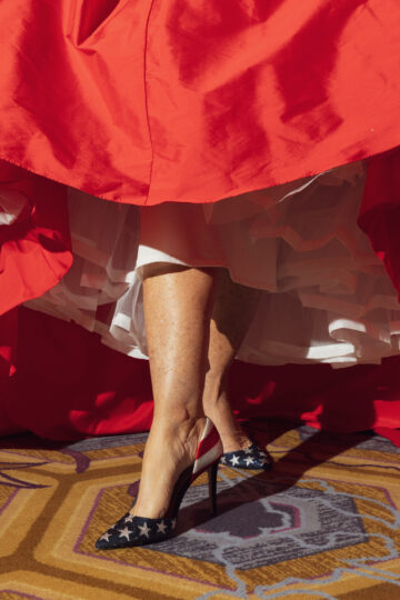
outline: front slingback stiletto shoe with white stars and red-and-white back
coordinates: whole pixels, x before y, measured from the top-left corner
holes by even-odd
[[[209,492],[212,513],[217,509],[217,471],[222,456],[222,443],[217,429],[207,419],[194,462],[179,476],[166,514],[161,519],[133,517],[127,512],[96,542],[99,550],[127,548],[160,542],[171,538],[177,526],[177,518],[182,499],[191,483],[204,471],[209,473]]]

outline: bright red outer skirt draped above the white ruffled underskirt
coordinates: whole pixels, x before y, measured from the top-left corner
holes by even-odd
[[[72,262],[60,183],[211,202],[400,143],[398,0],[2,0],[0,23],[0,313]],[[400,287],[378,162],[360,223]]]

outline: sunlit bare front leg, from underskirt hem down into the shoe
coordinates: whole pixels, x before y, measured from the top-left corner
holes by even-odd
[[[204,426],[202,392],[213,277],[200,269],[148,266],[143,292],[154,417],[131,512],[160,518],[176,480],[194,460]]]

